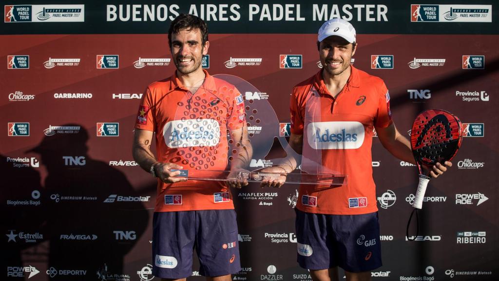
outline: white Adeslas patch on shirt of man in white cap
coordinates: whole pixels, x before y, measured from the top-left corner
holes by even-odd
[[[356,121],[311,122],[307,137],[314,149],[356,149],[364,143],[364,125]]]

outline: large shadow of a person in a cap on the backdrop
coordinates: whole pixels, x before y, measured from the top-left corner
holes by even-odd
[[[105,280],[124,274],[124,256],[144,233],[149,217],[125,175],[89,157],[88,132],[80,127],[78,133],[46,131],[30,150],[40,154],[47,168],[44,192],[49,199],[42,231],[49,239],[47,274],[52,280]],[[61,269],[81,271],[61,275]]]

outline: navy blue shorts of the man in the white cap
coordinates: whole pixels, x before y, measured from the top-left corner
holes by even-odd
[[[295,210],[301,267],[319,270],[339,266],[362,272],[382,265],[378,212],[335,215]]]

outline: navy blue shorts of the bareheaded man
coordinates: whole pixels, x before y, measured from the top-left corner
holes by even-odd
[[[222,276],[241,270],[234,209],[155,212],[152,245],[157,277],[191,276],[194,248],[201,275]]]

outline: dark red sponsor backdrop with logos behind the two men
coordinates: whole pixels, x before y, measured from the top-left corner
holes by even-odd
[[[255,85],[245,99],[268,99],[283,136],[292,86],[321,67],[316,30],[331,17],[352,22],[354,65],[385,80],[401,132],[409,136],[426,108],[450,110],[466,128],[454,166],[430,181],[415,241],[405,230],[417,169],[374,137],[384,260],[374,279],[498,279],[499,11],[495,1],[473,2],[5,2],[1,279],[155,279],[156,182],[131,145],[142,92],[175,70],[165,32],[181,12],[208,22],[203,66]],[[295,261],[297,188],[233,190],[243,266],[234,280],[311,280]],[[204,279],[197,262],[188,279]]]

